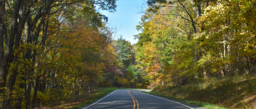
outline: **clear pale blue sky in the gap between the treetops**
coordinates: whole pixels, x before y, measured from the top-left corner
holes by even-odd
[[[114,13],[102,11],[102,14],[108,17],[108,22],[117,27],[117,35],[122,35],[123,39],[130,41],[131,44],[137,43],[133,35],[139,33],[136,26],[139,25],[142,16],[138,8],[142,4],[143,0],[118,0]]]

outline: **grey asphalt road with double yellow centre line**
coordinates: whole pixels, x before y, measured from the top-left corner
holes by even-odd
[[[80,109],[205,109],[140,91],[145,90],[119,89]]]

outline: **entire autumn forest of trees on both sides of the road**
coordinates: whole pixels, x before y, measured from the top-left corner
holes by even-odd
[[[0,108],[234,77],[255,95],[255,0],[146,0],[133,45],[99,12],[116,1],[0,0]]]

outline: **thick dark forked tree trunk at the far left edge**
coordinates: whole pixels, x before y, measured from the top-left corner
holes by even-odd
[[[8,73],[8,64],[9,59],[11,57],[13,45],[14,45],[14,37],[17,30],[17,19],[18,19],[18,11],[21,6],[21,2],[23,0],[15,1],[14,11],[12,13],[12,20],[11,20],[11,29],[9,30],[9,37],[7,37],[7,31],[4,24],[5,20],[5,2],[6,0],[0,1],[0,93],[3,96],[0,97],[3,101],[0,102],[0,108],[4,106],[4,96],[5,96],[5,86],[6,86],[6,76]],[[5,42],[5,51],[3,49],[3,42]]]

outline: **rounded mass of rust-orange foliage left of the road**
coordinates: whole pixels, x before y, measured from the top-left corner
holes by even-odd
[[[106,69],[105,64],[115,62],[111,44],[105,43],[106,39],[96,27],[90,27],[83,21],[75,21],[64,29],[67,31],[58,39],[59,71],[66,72],[71,78],[97,81],[96,78]]]

